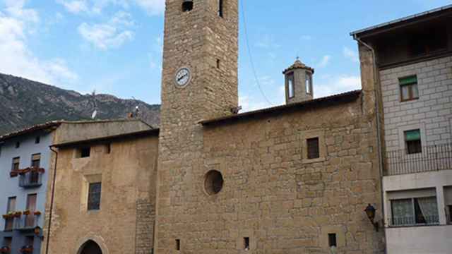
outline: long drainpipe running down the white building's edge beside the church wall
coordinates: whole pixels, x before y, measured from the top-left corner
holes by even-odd
[[[359,37],[357,37],[357,35],[353,35],[353,39],[355,39],[357,42],[359,42],[360,44],[364,45],[364,47],[367,47],[367,49],[369,49],[372,53],[372,65],[374,67],[374,96],[375,96],[375,113],[376,113],[376,135],[377,135],[377,139],[376,139],[376,143],[378,146],[378,155],[379,155],[379,171],[380,171],[380,182],[381,182],[381,214],[383,216],[383,231],[385,230],[385,224],[386,224],[386,217],[385,217],[385,202],[384,202],[384,195],[383,195],[383,146],[381,145],[381,112],[380,112],[380,107],[379,107],[379,93],[377,92],[377,89],[380,88],[376,87],[376,85],[379,83],[379,79],[377,77],[377,73],[378,73],[378,68],[376,67],[376,54],[375,54],[375,50],[373,47],[371,47],[369,44],[367,44],[366,42],[363,42],[361,39],[359,39]],[[384,238],[385,238],[385,246],[388,245],[388,239],[386,238],[386,232],[384,232]],[[385,253],[387,253],[387,248],[385,247]]]

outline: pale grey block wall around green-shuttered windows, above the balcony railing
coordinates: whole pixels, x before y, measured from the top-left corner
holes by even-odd
[[[419,99],[400,102],[399,78],[417,76]],[[452,56],[380,71],[387,150],[404,148],[403,131],[420,129],[423,145],[451,142]]]

